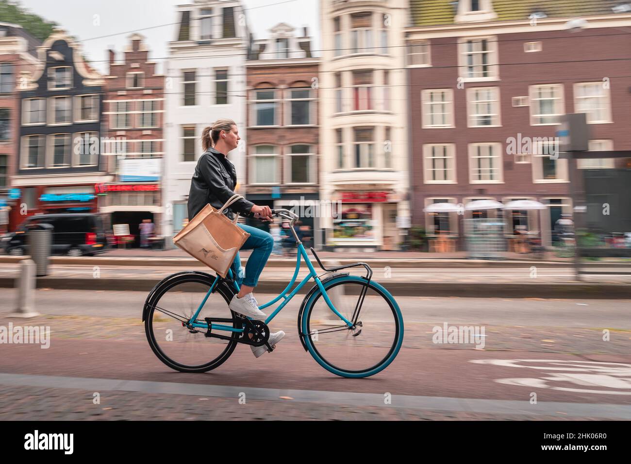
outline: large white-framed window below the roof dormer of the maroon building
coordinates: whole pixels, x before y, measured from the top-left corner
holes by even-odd
[[[466,81],[498,79],[497,38],[481,37],[458,41],[460,77]]]

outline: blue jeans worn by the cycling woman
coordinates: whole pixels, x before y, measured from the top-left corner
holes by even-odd
[[[245,264],[245,270],[241,267],[241,258],[237,252],[232,265],[232,272],[237,276],[235,279],[239,286],[247,285],[256,287],[259,282],[259,275],[263,271],[265,264],[268,262],[269,255],[274,248],[274,238],[264,230],[256,227],[246,226],[245,224],[237,224],[244,229],[250,236],[245,240],[241,250],[253,250]]]

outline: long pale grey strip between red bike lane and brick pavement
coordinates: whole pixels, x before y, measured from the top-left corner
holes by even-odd
[[[88,391],[141,391],[167,395],[196,397],[239,398],[240,393],[252,400],[293,401],[309,403],[345,404],[360,406],[397,407],[404,409],[477,412],[486,414],[548,415],[556,417],[601,417],[603,419],[631,419],[631,405],[603,403],[538,402],[528,400],[483,400],[479,398],[418,397],[392,395],[391,404],[384,402],[384,393],[353,393],[321,390],[278,390],[198,383],[153,382],[83,377],[64,377],[30,374],[0,373],[0,383],[46,388],[76,388]],[[293,400],[281,399],[290,397]]]

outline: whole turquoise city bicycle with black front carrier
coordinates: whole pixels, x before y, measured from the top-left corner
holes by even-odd
[[[305,351],[327,371],[343,377],[368,377],[385,369],[403,344],[403,317],[392,295],[372,280],[370,266],[357,262],[327,269],[310,248],[324,273],[311,264],[293,224],[298,215],[287,209],[273,216],[290,221],[297,246],[295,272],[280,295],[259,308],[278,305],[265,321],[237,315],[228,308],[239,284],[231,269],[227,277],[186,271],[170,275],[151,290],[143,308],[147,340],[160,361],[181,372],[206,372],[217,368],[237,344],[262,346],[268,351],[268,324],[309,281],[315,285],[298,311],[298,335]],[[293,289],[301,258],[309,274]],[[364,267],[365,275],[338,272]],[[237,270],[235,270],[237,272]]]

